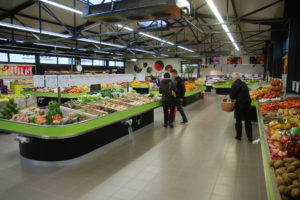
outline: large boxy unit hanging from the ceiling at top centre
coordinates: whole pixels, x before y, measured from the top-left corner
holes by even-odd
[[[131,23],[179,18],[190,13],[187,0],[123,0],[83,8],[83,18],[104,23]]]

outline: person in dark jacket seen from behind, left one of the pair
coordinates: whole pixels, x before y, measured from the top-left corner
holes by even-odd
[[[176,88],[170,77],[169,73],[164,74],[164,79],[160,82],[159,93],[162,94],[164,127],[167,127],[169,122],[170,127],[173,128]],[[170,115],[168,113],[168,109],[170,109]]]

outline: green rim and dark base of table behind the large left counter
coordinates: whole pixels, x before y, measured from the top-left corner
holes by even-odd
[[[35,95],[37,97],[38,106],[47,106],[51,100],[57,101],[57,93],[45,93],[45,92],[23,92],[24,94]],[[86,95],[87,93],[74,93],[74,94],[61,94],[61,103],[65,103],[70,99],[77,99]]]

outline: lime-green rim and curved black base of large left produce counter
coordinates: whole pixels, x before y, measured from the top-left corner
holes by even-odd
[[[112,113],[101,118],[61,126],[41,126],[0,120],[0,129],[18,133],[20,154],[30,161],[66,161],[78,158],[129,134],[128,125],[137,130],[153,123],[153,109],[160,101]]]

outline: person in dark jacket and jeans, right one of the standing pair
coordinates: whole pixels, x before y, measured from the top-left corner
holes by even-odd
[[[172,77],[174,78],[175,86],[177,89],[177,97],[176,97],[176,106],[177,110],[180,112],[180,115],[182,117],[182,124],[185,124],[188,122],[188,119],[184,113],[182,102],[185,95],[185,85],[184,80],[178,76],[177,70],[172,69],[171,70]]]

